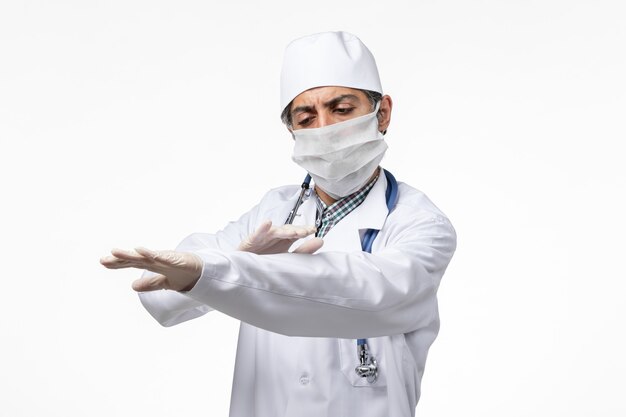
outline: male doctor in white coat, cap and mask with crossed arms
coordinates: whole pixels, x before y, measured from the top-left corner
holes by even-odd
[[[270,190],[238,221],[175,251],[101,259],[147,270],[133,288],[164,326],[213,309],[241,320],[231,417],[415,414],[456,235],[422,192],[379,167],[392,110],[382,92],[354,35],[293,41],[282,118],[314,185]]]

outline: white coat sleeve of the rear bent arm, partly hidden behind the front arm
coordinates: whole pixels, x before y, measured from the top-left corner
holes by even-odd
[[[255,206],[241,216],[238,221],[229,223],[216,234],[194,233],[185,238],[177,247],[180,252],[195,252],[202,249],[213,249],[222,252],[234,251],[239,243],[249,235],[252,223],[258,213]],[[145,271],[142,276],[153,274]],[[187,293],[177,291],[149,291],[139,293],[139,299],[145,309],[165,327],[173,326],[197,317],[212,310],[206,303],[190,298]]]

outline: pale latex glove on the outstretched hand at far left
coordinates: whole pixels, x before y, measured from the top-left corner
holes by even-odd
[[[100,259],[109,269],[147,269],[158,274],[133,282],[135,291],[189,291],[202,273],[202,259],[193,253],[135,248],[134,251],[113,249],[111,255]]]

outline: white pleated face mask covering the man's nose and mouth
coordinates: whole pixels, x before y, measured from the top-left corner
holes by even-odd
[[[293,131],[291,159],[334,199],[364,186],[383,159],[387,144],[378,131],[379,105],[372,113],[345,122]]]

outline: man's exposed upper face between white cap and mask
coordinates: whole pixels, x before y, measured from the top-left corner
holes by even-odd
[[[360,90],[335,86],[312,88],[300,93],[291,104],[292,129],[324,127],[372,111],[372,104]]]

